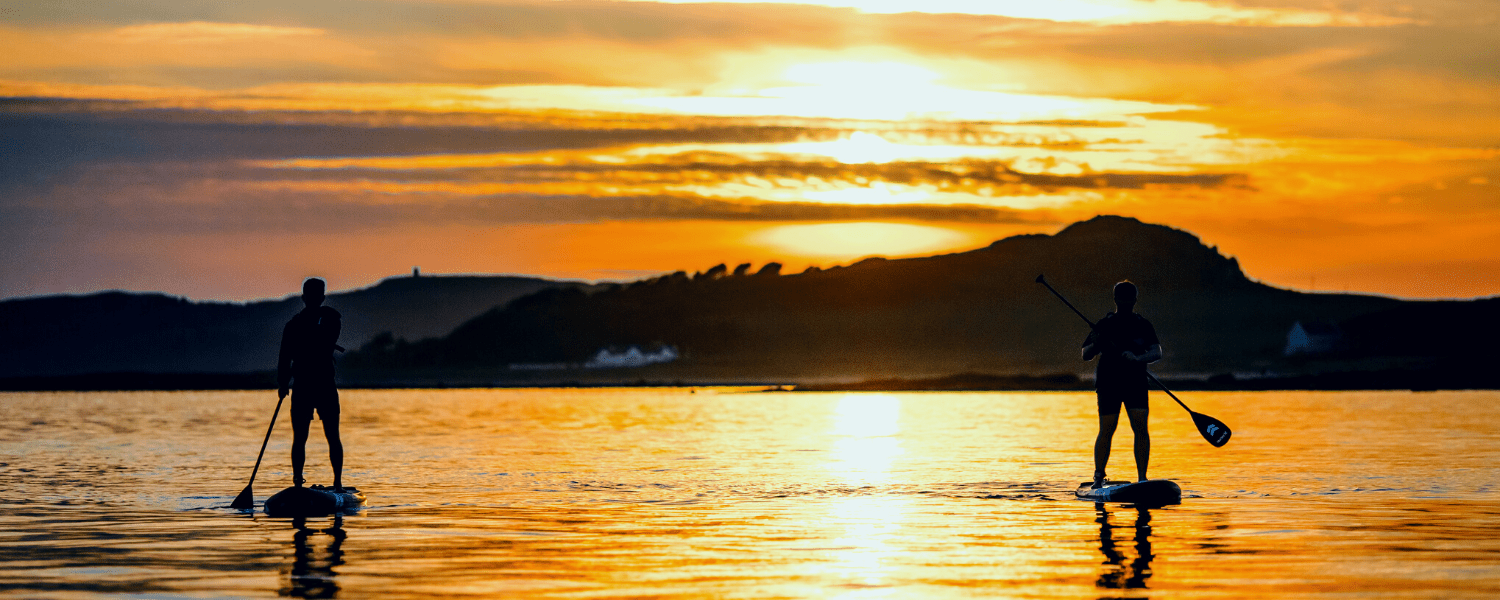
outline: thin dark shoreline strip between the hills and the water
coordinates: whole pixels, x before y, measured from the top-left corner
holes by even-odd
[[[610,374],[612,375],[612,374]],[[1449,369],[1386,369],[1281,376],[1236,378],[1162,376],[1178,392],[1282,392],[1282,390],[1500,390],[1500,375]],[[746,380],[663,380],[592,374],[590,378],[550,380],[406,378],[344,381],[342,388],[522,388],[522,387],[765,387],[766,392],[1090,392],[1094,382],[1072,374],[992,375],[958,374],[932,378],[880,378],[837,382]],[[87,374],[0,378],[0,392],[208,392],[274,390],[274,372],[248,374]]]

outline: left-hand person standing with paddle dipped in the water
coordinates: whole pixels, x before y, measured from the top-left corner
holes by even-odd
[[[309,278],[302,284],[302,312],[282,328],[280,356],[276,360],[276,392],[291,396],[291,477],[297,488],[306,482],[302,466],[308,454],[308,429],[312,414],[322,420],[322,435],[328,440],[328,462],[333,464],[333,488],[344,489],[344,442],[339,440],[339,390],[333,381],[333,352],[342,328],[340,315],[322,306],[327,284]]]

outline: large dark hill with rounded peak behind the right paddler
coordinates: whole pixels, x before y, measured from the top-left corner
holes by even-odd
[[[370,350],[356,375],[502,381],[512,363],[579,363],[600,348],[672,345],[684,358],[597,376],[672,381],[812,381],[960,372],[1084,374],[1088,333],[1038,286],[1046,273],[1094,318],[1120,279],[1167,348],[1162,372],[1263,369],[1281,360],[1296,321],[1344,321],[1401,302],[1300,294],[1254,282],[1197,237],[1101,216],[1056,236],[1011,237],[970,252],[872,258],[801,274],[690,278],[550,290],[519,298],[442,339]],[[582,372],[580,372],[582,374]],[[579,376],[596,376],[582,374]]]

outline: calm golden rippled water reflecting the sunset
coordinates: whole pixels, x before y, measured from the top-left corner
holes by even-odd
[[[1092,394],[346,390],[370,506],[296,520],[226,508],[273,392],[0,394],[0,596],[1500,596],[1500,393],[1184,399],[1148,510],[1072,498]]]

